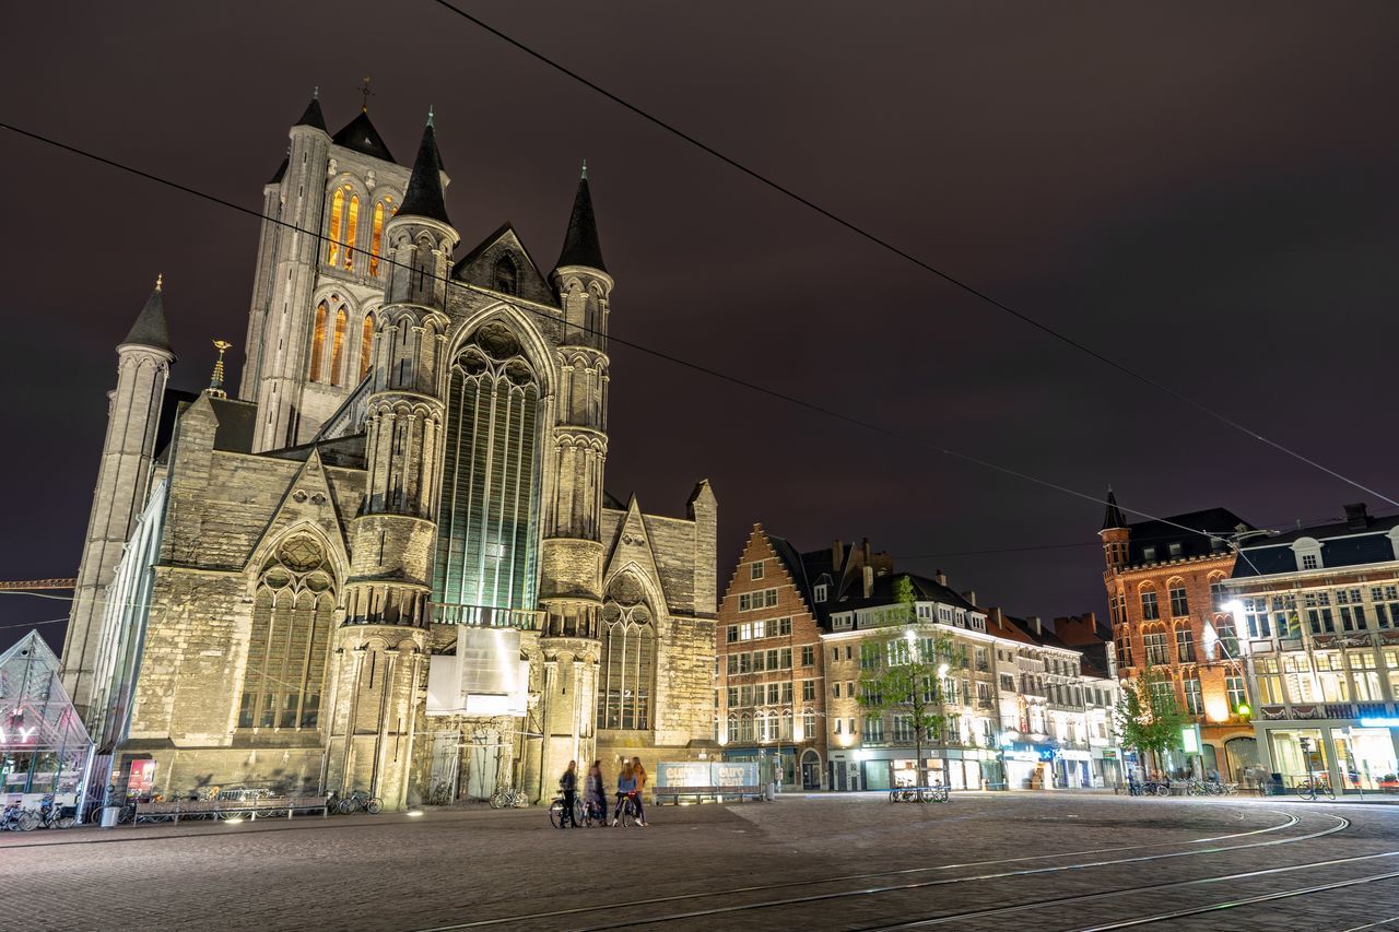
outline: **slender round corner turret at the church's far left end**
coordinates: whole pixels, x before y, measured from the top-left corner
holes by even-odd
[[[130,333],[116,347],[116,389],[108,395],[106,439],[63,642],[63,686],[84,719],[95,690],[92,676],[106,588],[136,518],[145,508],[161,402],[175,361],[161,278],[155,280],[155,290]]]

